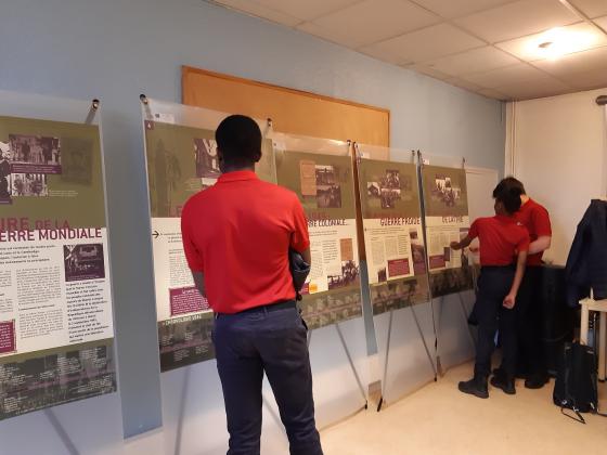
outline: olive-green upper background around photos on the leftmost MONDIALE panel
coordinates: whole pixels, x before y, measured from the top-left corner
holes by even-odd
[[[105,227],[98,126],[0,116],[0,141],[9,142],[9,134],[59,138],[63,174],[47,177],[49,191],[76,191],[78,197],[14,197],[12,205],[0,206],[3,218],[67,220],[70,227]]]

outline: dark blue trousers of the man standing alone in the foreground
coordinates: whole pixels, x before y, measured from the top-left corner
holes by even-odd
[[[259,455],[263,373],[274,392],[290,454],[322,455],[307,332],[295,304],[216,316],[212,339],[230,432],[228,455]]]

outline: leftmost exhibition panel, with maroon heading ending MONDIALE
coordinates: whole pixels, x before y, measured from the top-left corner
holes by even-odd
[[[116,390],[100,129],[0,91],[0,420]]]

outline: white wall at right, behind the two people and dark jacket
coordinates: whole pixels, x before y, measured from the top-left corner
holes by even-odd
[[[512,103],[507,109],[506,173],[551,213],[545,259],[565,264],[590,200],[605,196],[607,126],[595,100],[605,90]]]

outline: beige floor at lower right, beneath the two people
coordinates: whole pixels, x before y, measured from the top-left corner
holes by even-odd
[[[325,455],[607,454],[607,418],[586,414],[581,425],[563,416],[552,403],[554,381],[528,390],[518,380],[515,396],[491,388],[480,400],[457,390],[470,372],[472,365],[453,368],[380,413],[369,410],[324,430]],[[607,386],[599,388],[607,396]]]

